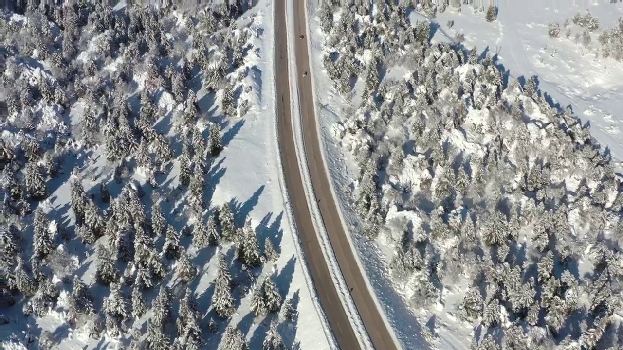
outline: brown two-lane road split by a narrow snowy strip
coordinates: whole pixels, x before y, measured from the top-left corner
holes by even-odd
[[[305,24],[305,6],[303,1],[293,1],[295,16],[295,35],[307,35],[307,25]],[[305,197],[303,181],[298,168],[298,159],[293,135],[293,120],[290,111],[290,88],[287,52],[287,31],[285,27],[286,0],[276,1],[276,58],[277,58],[277,113],[279,123],[279,143],[282,152],[283,171],[288,188],[290,201],[292,202],[293,214],[297,225],[298,233],[301,235],[305,257],[310,266],[312,277],[320,302],[325,310],[326,316],[335,338],[342,349],[359,349],[359,341],[350,323],[344,306],[338,295],[338,291],[331,273],[323,256],[320,240],[316,235],[312,215]],[[297,67],[300,72],[310,72],[310,62],[308,54],[307,40],[295,40],[295,55]],[[314,111],[312,82],[309,76],[298,79],[298,91],[300,96],[301,116],[303,120],[303,140],[305,143],[305,153],[309,162],[310,177],[318,206],[329,236],[331,246],[335,252],[344,275],[346,284],[351,288],[354,303],[359,312],[359,316],[368,332],[376,349],[392,350],[397,349],[389,329],[383,321],[380,311],[374,303],[374,298],[370,294],[368,287],[362,277],[362,272],[356,263],[354,252],[346,237],[346,232],[340,221],[338,207],[331,193],[331,186],[328,173],[323,163],[318,131],[316,128],[316,118]]]

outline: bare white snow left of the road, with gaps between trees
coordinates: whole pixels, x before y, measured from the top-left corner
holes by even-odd
[[[262,277],[272,275],[282,300],[293,298],[298,310],[297,321],[295,323],[280,323],[278,326],[285,345],[288,348],[300,349],[334,349],[333,337],[321,313],[320,306],[318,306],[317,297],[299,246],[298,236],[293,230],[288,199],[283,190],[283,174],[280,170],[281,164],[276,137],[273,14],[271,0],[257,1],[252,9],[237,19],[235,24],[237,29],[231,29],[234,31],[234,35],[240,35],[240,32],[243,31],[250,35],[250,49],[247,52],[247,57],[245,57],[244,65],[237,68],[228,77],[234,83],[234,87],[240,87],[239,101],[249,100],[250,109],[244,116],[222,119],[224,126],[222,136],[225,148],[218,158],[214,159],[213,166],[208,169],[206,191],[209,192],[209,202],[207,207],[214,209],[215,206],[232,201],[236,224],[244,224],[245,218],[248,217],[251,220],[251,226],[257,232],[260,244],[263,245],[264,239],[270,237],[276,250],[280,252],[280,257],[275,263],[267,262],[261,268],[250,272],[250,275],[255,275],[259,280]],[[178,17],[181,22],[183,16],[179,14]],[[24,21],[24,16],[13,15],[10,21]],[[88,50],[82,52],[78,59],[90,54],[92,52],[88,52]],[[49,79],[52,79],[49,67],[45,63],[40,67],[34,67],[31,65],[33,62],[36,61],[32,59],[23,61],[22,65],[27,65],[24,74],[30,74],[32,77],[47,75]],[[114,70],[115,64],[118,62],[113,62],[104,69]],[[141,82],[141,78],[136,78],[136,80],[134,86],[136,92],[140,92],[143,82]],[[201,126],[205,128],[209,120],[215,120],[216,116],[222,114],[221,108],[217,104],[221,97],[218,94],[219,97],[215,100],[209,100],[212,97],[209,97],[202,88],[197,91],[196,95],[201,115],[198,125],[200,128]],[[168,133],[169,138],[175,140],[178,135],[176,135],[173,121],[171,121],[174,118],[170,118],[170,116],[171,112],[181,111],[182,104],[178,105],[174,102],[171,94],[164,90],[161,90],[156,103],[168,115],[168,117],[158,121],[158,126],[162,127],[165,133]],[[70,124],[75,126],[78,123],[79,109],[77,105],[74,105],[71,110]],[[42,133],[55,133],[56,129],[60,128],[59,121],[62,121],[62,117],[57,116],[54,108],[44,110],[43,118],[44,124],[39,126]],[[46,121],[49,124],[45,124]],[[2,130],[2,138],[5,141],[17,141],[19,137],[7,128]],[[173,144],[174,149],[178,146]],[[71,193],[69,173],[72,164],[78,166],[78,172],[84,178],[83,186],[87,193],[95,193],[94,189],[97,189],[95,186],[99,182],[108,182],[112,179],[112,168],[105,161],[103,147],[87,153],[80,148],[79,144],[76,144],[72,151],[75,159],[65,162],[64,172],[66,174],[61,176],[62,179],[55,181],[57,186],[54,186],[54,189],[50,191],[50,197],[39,204],[46,212],[49,212],[50,219],[61,222],[69,230],[72,230],[72,226],[74,226],[73,215],[69,214],[68,204]],[[172,224],[175,229],[181,230],[186,225],[193,225],[193,220],[189,219],[191,217],[188,210],[189,206],[184,196],[181,196],[181,193],[176,189],[179,183],[177,179],[178,163],[178,161],[173,161],[174,165],[168,172],[166,179],[159,181],[158,189],[152,190],[146,183],[146,177],[142,176],[140,171],[133,174],[131,180],[140,184],[146,191],[146,196],[143,197],[146,212],[150,211],[151,204],[161,201],[169,224]],[[74,177],[72,176],[71,179]],[[115,187],[118,186],[111,182],[112,197],[117,196],[120,192],[120,189]],[[207,213],[207,210],[204,213]],[[213,247],[197,250],[190,245],[189,237],[183,237],[181,245],[188,247],[189,256],[199,271],[196,279],[191,283],[191,288],[198,300],[201,315],[206,316],[211,308],[210,299],[214,290],[212,281],[214,281],[217,273],[217,250]],[[72,257],[70,260],[72,263],[65,266],[68,275],[76,275],[82,278],[87,285],[92,285],[92,293],[98,300],[101,300],[101,294],[108,294],[105,291],[106,288],[95,285],[96,267],[93,263],[95,260],[93,247],[85,247],[79,240],[74,240],[60,245],[59,249],[64,249],[67,255]],[[222,252],[225,253],[228,262],[231,262],[234,257],[234,250],[235,248],[231,244],[222,247]],[[237,271],[233,265],[230,265],[230,269],[234,280],[239,280],[239,282],[245,280],[244,271]],[[57,278],[61,277],[63,276]],[[169,273],[164,278],[163,283],[173,286],[176,283],[174,273]],[[49,331],[57,349],[127,349],[130,346],[132,329],[138,330],[139,334],[145,333],[145,321],[149,318],[150,313],[135,321],[128,333],[122,333],[117,338],[104,337],[96,340],[90,338],[85,329],[72,329],[65,317],[68,307],[67,296],[70,291],[62,290],[54,310],[50,310],[47,315],[40,318],[22,315],[22,304],[18,303],[8,311],[10,323],[4,328],[10,327],[9,333],[12,333],[12,336],[22,343],[26,343],[29,337],[37,339],[42,333]],[[153,292],[148,293],[152,294]],[[216,333],[211,334],[207,330],[209,317],[201,320],[202,327],[206,329],[204,330],[206,349],[221,349],[224,346],[222,344],[224,341],[221,341],[221,338],[224,338],[222,334],[227,325],[237,326],[242,331],[250,349],[262,347],[264,334],[269,329],[269,324],[267,322],[260,323],[260,320],[256,319],[254,314],[250,312],[252,293],[244,295],[241,292],[240,295],[238,293],[236,295],[241,298],[238,300],[239,303],[238,301],[236,303],[237,310],[231,319],[217,321],[219,330]],[[3,333],[6,332],[3,331]],[[11,347],[20,348],[17,342],[9,346],[9,348]]]

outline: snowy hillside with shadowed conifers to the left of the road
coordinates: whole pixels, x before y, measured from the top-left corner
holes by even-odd
[[[7,348],[331,348],[278,181],[270,1],[2,21]]]

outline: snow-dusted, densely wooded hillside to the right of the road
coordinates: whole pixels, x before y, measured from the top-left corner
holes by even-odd
[[[508,21],[538,17],[512,3]],[[503,9],[497,19],[488,11],[489,22],[487,9],[468,7],[434,17],[402,6],[310,6],[318,117],[344,189],[336,196],[405,348],[616,349],[623,187],[611,145],[596,133],[600,148],[574,100],[552,102],[554,85],[531,78],[539,72],[517,64],[509,75],[499,43],[497,57],[493,47],[457,44],[506,26]],[[452,32],[460,19],[473,28],[465,38]],[[570,45],[549,37],[547,21],[530,40]],[[508,55],[524,62],[518,52]],[[623,64],[597,63],[614,71],[604,75],[610,85],[572,85],[569,72],[556,86],[578,96],[589,85],[616,91],[613,68]]]

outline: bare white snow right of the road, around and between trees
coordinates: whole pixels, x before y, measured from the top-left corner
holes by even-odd
[[[620,111],[623,109],[623,98],[621,95],[621,92],[623,92],[623,62],[602,57],[598,35],[601,29],[611,29],[616,25],[616,21],[623,15],[623,4],[621,2],[611,4],[607,0],[499,0],[495,3],[498,5],[498,14],[497,20],[493,22],[485,21],[486,6],[485,12],[476,11],[470,6],[463,6],[461,12],[448,7],[443,13],[437,12],[436,16],[432,18],[430,14],[407,9],[407,16],[411,24],[414,24],[416,21],[432,21],[432,43],[456,43],[457,35],[464,34],[464,38],[459,40],[464,45],[464,48],[469,50],[474,46],[477,47],[477,54],[482,54],[482,58],[487,53],[493,55],[495,65],[502,72],[508,73],[508,82],[519,78],[518,80],[523,83],[531,76],[536,75],[538,77],[538,89],[545,95],[546,100],[553,106],[558,106],[561,109],[571,105],[574,114],[579,116],[583,124],[589,121],[592,126],[591,135],[601,144],[602,149],[610,149],[614,160],[621,161],[623,159],[623,138],[619,136],[621,135],[619,130],[621,126],[619,124],[623,122],[623,116],[620,115]],[[361,148],[369,141],[367,139],[369,136],[364,135],[359,138],[358,136],[360,136],[359,133],[361,133],[362,128],[359,126],[354,127],[353,120],[362,121],[366,118],[362,117],[357,120],[358,113],[361,113],[357,108],[363,104],[360,92],[363,90],[365,72],[358,76],[353,89],[354,93],[347,94],[348,97],[344,97],[336,92],[333,82],[328,77],[328,73],[323,65],[323,59],[330,50],[340,50],[327,49],[325,46],[326,34],[321,29],[318,17],[320,7],[311,2],[307,6],[310,47],[313,49],[312,57],[310,58],[313,68],[310,73],[315,82],[316,113],[320,120],[321,135],[323,135],[325,161],[328,164],[328,171],[335,186],[336,198],[340,201],[345,221],[350,226],[351,239],[355,247],[358,248],[359,258],[361,258],[361,262],[366,269],[369,281],[378,296],[379,303],[381,303],[386,316],[388,316],[389,322],[396,331],[399,341],[405,349],[425,349],[429,347],[469,349],[470,343],[471,346],[475,345],[477,348],[477,343],[482,343],[480,345],[482,348],[480,349],[498,349],[492,346],[491,343],[487,343],[490,339],[484,338],[485,332],[489,335],[493,334],[493,337],[495,337],[493,339],[501,337],[499,334],[495,333],[495,331],[494,333],[489,333],[485,326],[472,327],[471,323],[468,324],[458,317],[460,304],[469,285],[459,283],[459,281],[457,281],[456,285],[447,285],[447,288],[442,289],[436,303],[433,303],[426,310],[412,306],[412,300],[409,300],[409,298],[413,298],[413,290],[410,290],[407,285],[396,283],[390,277],[388,265],[394,254],[395,242],[386,239],[386,237],[369,240],[362,234],[361,224],[359,224],[358,215],[355,213],[356,203],[353,194],[358,188],[357,182],[360,174],[358,174],[358,159],[355,159],[353,153],[356,153],[356,149]],[[579,39],[575,39],[575,35],[581,34],[583,29],[578,25],[574,25],[572,21],[572,17],[576,16],[578,12],[585,14],[586,9],[590,10],[592,16],[599,19],[600,25],[599,30],[589,34],[591,36],[591,44],[586,44],[586,40],[583,44],[583,37],[581,36]],[[334,19],[338,23],[340,23],[339,16],[336,16]],[[356,16],[361,21],[359,14]],[[374,12],[374,16],[379,16],[379,13]],[[563,23],[566,19],[569,21],[567,25],[564,25]],[[366,17],[363,21],[367,22],[369,19]],[[558,21],[561,26],[558,38],[549,37],[548,35],[548,25],[553,21]],[[567,30],[570,32],[569,38],[566,37]],[[337,42],[339,40],[335,40],[333,44],[335,45]],[[340,44],[343,45],[343,42],[340,42]],[[366,54],[361,54],[361,52],[356,54],[356,59],[361,60],[363,65],[369,59]],[[411,74],[413,68],[391,67],[384,74],[384,79],[402,81],[404,78],[404,80],[409,80],[409,74]],[[462,70],[462,72],[464,73],[465,70]],[[506,93],[510,94],[510,92]],[[391,95],[391,93],[388,93],[388,95]],[[541,113],[545,114],[545,112]],[[537,112],[536,115],[540,115],[540,113]],[[460,141],[457,141],[455,138],[452,141],[457,144],[453,146],[465,149],[470,154],[472,152],[473,154],[480,152],[480,146],[484,142],[474,141],[477,136],[471,130],[472,123],[473,125],[480,123],[478,121],[480,118],[483,118],[483,116],[470,111],[468,116],[470,129],[466,128],[465,140],[462,137],[458,137]],[[407,128],[407,125],[404,127]],[[346,128],[349,130],[354,129],[358,133],[350,136],[345,132]],[[384,140],[391,140],[393,137],[392,131],[394,134],[401,133],[399,128],[397,130],[389,130],[388,135],[384,135]],[[345,134],[346,137],[344,137]],[[541,152],[545,152],[548,147],[547,143],[549,141],[545,142]],[[541,147],[541,145],[538,147]],[[537,148],[536,145],[535,148]],[[407,163],[407,165],[416,168],[417,162],[423,160],[411,158],[409,161],[414,163]],[[619,168],[617,164],[614,165],[616,169]],[[572,171],[572,169],[568,169],[568,171]],[[415,169],[411,172],[405,171],[401,175],[402,178],[392,178],[390,182],[398,184],[405,181],[406,177],[407,181],[411,181],[413,186],[416,186],[416,183],[422,181],[421,176],[422,174]],[[574,176],[568,178],[566,186],[569,189],[578,189],[579,179],[581,179],[581,176],[577,179]],[[389,187],[389,184],[386,183],[383,186]],[[386,187],[383,187],[382,191],[386,192]],[[614,197],[609,198],[614,199]],[[383,199],[383,201],[383,204],[386,204],[386,199]],[[411,222],[414,227],[423,224],[421,219],[422,209],[420,209],[420,212],[417,209],[413,211],[397,209],[397,206],[391,205],[391,200],[389,203],[390,208],[386,220],[406,220]],[[570,224],[577,225],[578,232],[583,230],[579,228],[584,227],[586,224],[583,219],[579,219],[575,216],[576,214],[569,215]],[[612,229],[613,232],[610,232],[609,239],[618,239],[621,242],[621,237],[617,237],[620,233],[616,233],[616,230]],[[526,238],[531,239],[532,237]],[[602,242],[597,243],[603,244]],[[598,244],[596,242],[586,243],[584,246],[586,251],[579,254],[579,256],[584,257],[584,254]],[[450,246],[445,248],[449,249]],[[617,266],[623,266],[621,254],[617,252],[616,248],[613,250],[618,256]],[[586,260],[588,260],[588,257],[586,257]],[[592,268],[591,263],[586,260],[583,258],[579,262],[579,270],[583,276],[588,276]],[[469,262],[465,263],[469,264]],[[580,281],[580,283],[582,285],[581,288],[584,288],[586,291],[592,288],[595,282],[587,280]],[[586,295],[581,298],[586,298]],[[619,308],[618,310],[612,316],[612,319],[616,320],[613,321],[612,327],[616,329],[617,324],[619,324],[619,339],[623,342],[620,335],[623,329],[620,325],[621,316],[617,316],[621,314],[621,309]],[[502,309],[500,312],[503,313],[504,310]],[[510,323],[502,324],[500,328],[503,328],[504,332],[510,332]],[[584,323],[580,329],[586,329],[586,324]],[[524,329],[523,331],[526,334],[530,333],[529,336],[534,337],[534,339],[541,339],[540,341],[533,339],[531,346],[535,346],[535,348],[542,346],[543,349],[572,349],[574,346],[579,347],[581,342],[586,341],[586,338],[583,336],[580,341],[564,339],[560,344],[553,344],[551,340],[546,340],[549,335],[547,334],[548,331],[543,331],[543,334],[539,333],[540,330],[529,332]],[[476,344],[472,343],[473,338],[477,338]],[[498,341],[501,342],[499,339]],[[492,347],[487,348],[485,343]],[[616,339],[614,339],[614,343],[616,344]],[[619,343],[619,345],[621,344]],[[500,346],[502,345],[500,344]],[[472,349],[474,348],[472,347]]]

